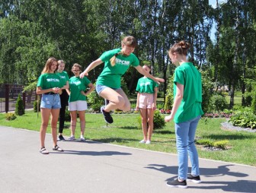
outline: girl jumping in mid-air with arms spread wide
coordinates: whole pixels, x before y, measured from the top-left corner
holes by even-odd
[[[128,70],[130,65],[136,68],[140,74],[151,78],[155,82],[164,82],[162,78],[155,78],[139,65],[139,59],[133,54],[137,46],[133,36],[126,36],[121,42],[120,49],[112,49],[104,52],[99,59],[91,62],[90,65],[80,74],[80,77],[88,76],[88,72],[104,62],[104,69],[96,82],[96,91],[99,96],[108,100],[106,106],[101,106],[101,112],[107,123],[113,123],[110,111],[120,109],[130,110],[130,101],[121,88],[121,77]]]

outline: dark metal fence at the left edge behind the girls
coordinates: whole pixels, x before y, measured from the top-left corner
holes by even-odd
[[[23,85],[18,84],[0,84],[0,112],[14,111],[19,94],[21,94],[25,109],[33,108],[37,94],[35,91],[23,93],[23,88]]]

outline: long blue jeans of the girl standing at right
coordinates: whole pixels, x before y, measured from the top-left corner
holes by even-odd
[[[201,115],[187,122],[175,123],[176,146],[178,151],[178,178],[187,179],[188,154],[191,162],[191,174],[200,176],[197,148],[194,137]]]

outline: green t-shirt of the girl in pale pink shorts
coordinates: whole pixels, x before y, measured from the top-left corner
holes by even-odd
[[[155,87],[158,87],[158,84],[153,81],[151,78],[139,78],[137,83],[136,91],[139,93],[155,93]]]

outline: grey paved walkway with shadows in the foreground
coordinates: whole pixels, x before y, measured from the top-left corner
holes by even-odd
[[[0,192],[256,192],[256,167],[200,159],[202,183],[170,188],[177,156],[94,141],[60,141],[65,152],[39,153],[39,134],[0,126]]]

